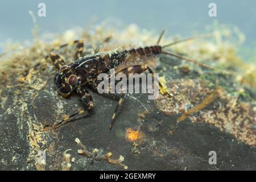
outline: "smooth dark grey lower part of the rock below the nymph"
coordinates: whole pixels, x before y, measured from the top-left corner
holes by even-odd
[[[176,64],[176,60],[163,59],[163,67],[168,69],[174,65],[164,65],[166,61]],[[41,76],[47,80],[47,75]],[[182,71],[170,71],[166,80],[197,76],[197,72],[184,75]],[[71,159],[75,158],[69,162],[71,170],[124,170],[106,160],[93,160],[78,154],[81,147],[75,142],[76,138],[88,151],[97,148],[98,155],[112,152],[112,159],[122,155],[122,163],[130,170],[256,169],[254,146],[209,123],[193,123],[189,118],[177,122],[179,113],[164,114],[155,101],[148,100],[147,94],[126,96],[113,129],[109,130],[118,97],[114,99],[91,91],[96,104],[92,112],[53,130],[51,126],[61,121],[64,114],[72,114],[82,108],[79,98],[76,95],[69,98],[59,96],[52,80],[33,94],[23,86],[5,88],[2,92],[2,96],[7,97],[0,112],[2,170],[60,170],[63,169],[61,163],[65,161],[63,152],[68,149],[71,149],[67,152]],[[208,110],[214,108],[207,107]],[[200,112],[195,116],[200,118]],[[132,136],[129,140],[128,129],[138,131],[139,137],[133,141]],[[36,166],[39,151],[45,151],[46,163]],[[208,163],[209,151],[216,151],[216,165]]]

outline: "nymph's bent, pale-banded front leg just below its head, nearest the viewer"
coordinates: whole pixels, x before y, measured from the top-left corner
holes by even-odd
[[[93,98],[90,95],[90,93],[86,90],[85,87],[78,87],[76,88],[76,92],[77,94],[80,96],[80,99],[82,101],[82,103],[85,105],[85,109],[81,109],[79,111],[77,111],[74,114],[68,115],[67,117],[65,117],[61,122],[57,123],[55,125],[55,129],[57,129],[58,127],[60,127],[61,125],[64,125],[65,123],[69,122],[71,118],[75,117],[76,115],[79,114],[83,114],[85,112],[88,112],[90,109],[92,109],[94,107],[94,103],[93,103]]]

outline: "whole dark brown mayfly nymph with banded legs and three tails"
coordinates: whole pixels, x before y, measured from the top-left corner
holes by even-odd
[[[64,122],[67,122],[69,118],[72,118],[77,114],[84,113],[85,111],[93,108],[94,103],[92,96],[86,88],[97,90],[97,76],[100,73],[108,74],[110,69],[116,69],[116,75],[118,73],[124,73],[127,77],[129,76],[129,73],[142,73],[145,71],[152,73],[152,75],[154,76],[154,72],[151,68],[148,67],[146,63],[148,59],[157,56],[160,53],[175,56],[180,59],[191,61],[193,63],[203,65],[204,67],[212,69],[212,67],[198,63],[195,60],[191,60],[186,57],[176,55],[174,53],[163,51],[163,48],[165,47],[172,46],[179,42],[184,42],[185,40],[191,38],[179,40],[166,46],[159,46],[158,43],[160,42],[162,36],[163,32],[160,35],[156,46],[137,49],[133,48],[130,50],[115,51],[111,53],[98,53],[96,55],[88,55],[84,57],[80,57],[82,55],[82,52],[84,51],[84,44],[81,40],[79,40],[76,41],[77,46],[75,52],[75,62],[69,65],[66,65],[64,60],[59,55],[56,55],[56,53],[51,53],[49,56],[51,57],[53,64],[55,64],[55,67],[59,69],[59,72],[56,73],[54,78],[57,91],[63,95],[68,95],[71,94],[71,92],[76,92],[85,106],[85,109],[82,109],[77,113],[70,115],[63,121],[57,123],[55,127],[59,127],[61,123],[63,124]],[[133,63],[134,60],[137,60],[136,64],[129,64]],[[121,65],[127,65],[127,67],[122,67],[120,69]],[[160,82],[159,88],[164,90],[164,94],[166,94],[168,97],[171,97],[171,95],[163,88]],[[119,107],[122,105],[124,96],[125,94],[122,93],[121,97],[119,98],[118,105],[115,108],[112,120],[110,122],[110,129],[112,128],[112,124],[117,115]]]

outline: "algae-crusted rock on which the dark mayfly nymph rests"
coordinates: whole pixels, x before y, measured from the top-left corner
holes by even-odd
[[[76,94],[63,98],[56,93],[56,69],[43,58],[54,47],[71,63],[75,47],[59,46],[74,39],[86,40],[86,53],[151,46],[158,39],[152,32],[100,25],[53,35],[51,43],[35,37],[30,47],[0,55],[0,169],[255,170],[255,67],[236,55],[236,43],[220,42],[222,32],[214,32],[212,42],[195,40],[167,51],[241,72],[228,75],[170,56],[152,59],[148,64],[172,98],[126,94],[112,130],[119,96],[92,90],[96,106],[90,113],[53,127],[83,105]],[[216,151],[217,164],[209,164],[210,151]]]

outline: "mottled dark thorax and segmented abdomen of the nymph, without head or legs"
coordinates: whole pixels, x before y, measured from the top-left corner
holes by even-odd
[[[160,46],[152,46],[129,51],[104,53],[81,57],[71,65],[71,69],[79,77],[77,86],[94,86],[100,73],[109,73],[110,69],[120,69],[120,65],[135,59],[149,59],[160,53]],[[137,62],[138,64],[138,62]],[[118,71],[117,71],[118,72]]]

